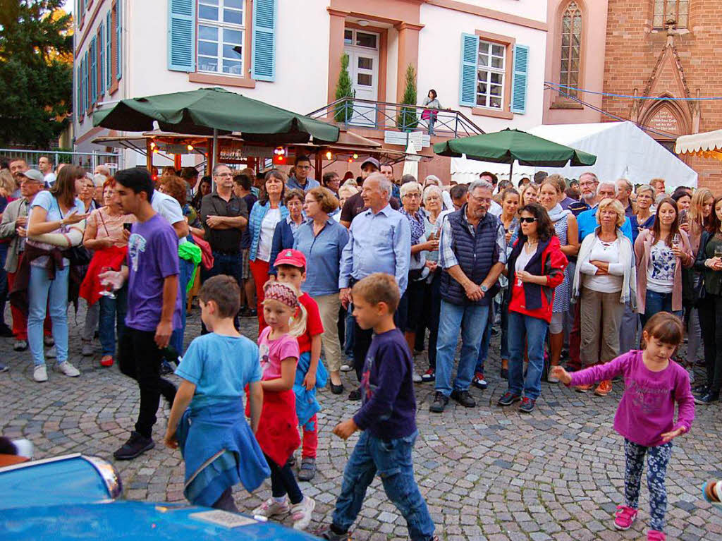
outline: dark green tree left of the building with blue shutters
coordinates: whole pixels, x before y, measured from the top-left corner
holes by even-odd
[[[68,123],[71,16],[63,0],[0,0],[0,146],[48,147]]]

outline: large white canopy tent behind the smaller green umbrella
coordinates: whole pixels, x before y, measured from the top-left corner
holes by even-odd
[[[559,173],[565,178],[579,178],[585,171],[593,171],[600,179],[616,181],[627,178],[641,184],[652,178],[664,178],[668,189],[677,186],[697,186],[697,173],[677,156],[649,137],[633,122],[600,122],[596,124],[546,124],[529,130],[530,134],[565,144],[596,155],[596,164],[589,167],[528,167],[514,165],[513,182],[531,178],[538,170]],[[451,159],[451,178],[470,182],[482,171],[491,171],[499,178],[508,178],[509,165],[478,162],[465,158]]]

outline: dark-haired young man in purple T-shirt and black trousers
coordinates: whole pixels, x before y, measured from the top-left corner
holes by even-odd
[[[113,456],[129,460],[155,447],[152,430],[160,395],[168,404],[175,399],[175,386],[160,377],[160,364],[173,329],[182,326],[181,293],[178,235],[151,206],[150,174],[141,168],[121,170],[116,183],[123,212],[135,215],[138,222],[128,240],[128,266],[101,274],[100,280],[116,289],[128,281],[126,332],[118,337],[118,364],[138,382],[140,407],[135,430]]]

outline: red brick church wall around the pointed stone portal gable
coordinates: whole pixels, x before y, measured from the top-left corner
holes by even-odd
[[[609,0],[606,30],[604,91],[641,93],[666,43],[664,30],[653,33],[653,0]],[[694,96],[722,96],[722,9],[718,0],[690,1],[690,33],[675,38],[687,86]],[[604,98],[603,108],[630,118],[632,100]],[[687,107],[687,104],[684,104]],[[700,103],[700,131],[722,129],[722,100]],[[691,115],[690,115],[691,116]],[[605,121],[614,120],[604,118]],[[700,174],[700,186],[722,194],[722,163],[690,158],[688,165]]]

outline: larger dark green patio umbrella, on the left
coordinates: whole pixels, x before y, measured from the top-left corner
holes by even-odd
[[[239,132],[251,144],[306,143],[310,137],[321,142],[339,139],[337,126],[217,87],[129,98],[93,115],[95,126],[123,131],[150,131],[154,121],[162,131],[214,139]]]

